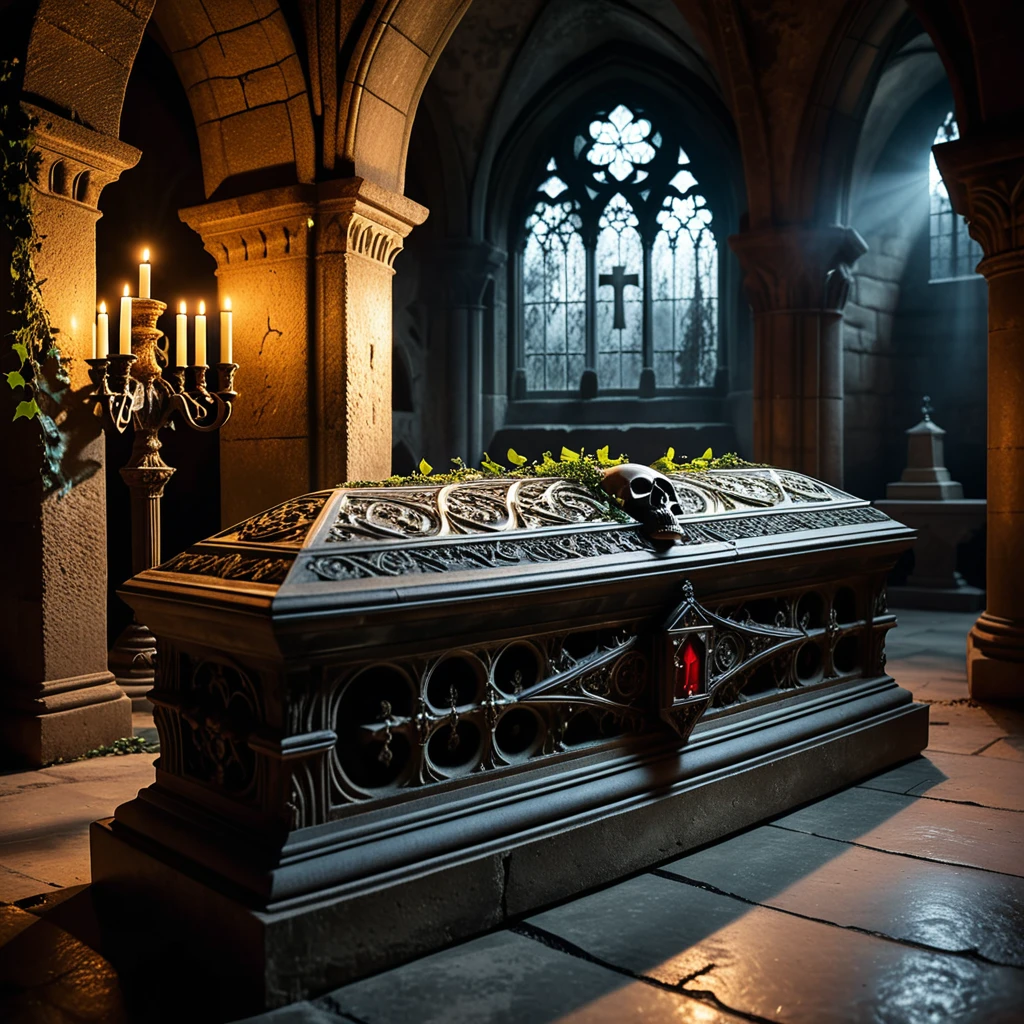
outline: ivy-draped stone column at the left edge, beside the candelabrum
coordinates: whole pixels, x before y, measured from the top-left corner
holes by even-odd
[[[74,485],[46,495],[39,425],[0,409],[0,760],[38,766],[131,735],[131,701],[106,667],[106,508],[103,438],[82,394],[92,354],[97,203],[134,166],[137,150],[28,106],[42,156],[33,190],[42,249],[36,271],[71,386],[56,417]],[[5,244],[6,247],[6,244]],[[9,265],[9,248],[8,265]],[[6,292],[3,309],[8,308]],[[6,331],[6,327],[4,328]]]

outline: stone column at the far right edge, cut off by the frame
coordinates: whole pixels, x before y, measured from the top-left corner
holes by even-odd
[[[987,599],[968,637],[971,696],[1024,698],[1024,138],[937,145],[988,282]]]

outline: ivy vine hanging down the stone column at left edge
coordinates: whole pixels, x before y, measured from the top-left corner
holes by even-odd
[[[11,247],[10,351],[16,369],[4,373],[15,392],[14,420],[39,424],[43,488],[67,494],[73,480],[65,475],[67,440],[55,417],[71,383],[50,324],[35,257],[42,237],[32,215],[32,186],[41,157],[35,148],[35,120],[22,109],[16,59],[0,61],[0,224]]]

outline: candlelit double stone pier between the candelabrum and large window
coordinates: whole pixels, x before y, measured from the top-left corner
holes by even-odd
[[[181,211],[234,307],[239,397],[221,430],[225,525],[391,468],[391,278],[418,204],[361,178]]]

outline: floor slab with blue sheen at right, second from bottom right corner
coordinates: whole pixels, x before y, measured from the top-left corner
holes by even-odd
[[[1024,879],[768,826],[662,870],[803,916],[1024,967]]]

